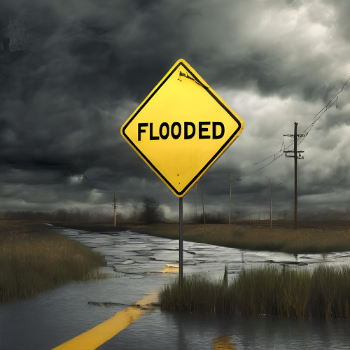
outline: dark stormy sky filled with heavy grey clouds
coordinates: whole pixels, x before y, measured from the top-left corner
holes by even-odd
[[[267,163],[350,78],[349,15],[348,1],[1,1],[0,211],[112,214],[116,191],[125,214],[152,195],[175,218],[120,127],[180,58],[245,122],[200,180],[206,211],[228,213],[231,174],[232,214],[267,217],[271,179],[274,214],[293,207],[293,159]],[[350,211],[350,82],[337,96],[300,139],[300,214]],[[183,203],[195,212],[195,190]]]

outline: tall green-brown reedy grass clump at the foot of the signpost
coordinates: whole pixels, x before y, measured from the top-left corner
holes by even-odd
[[[256,269],[242,272],[229,286],[186,276],[182,288],[173,281],[159,298],[167,310],[349,319],[350,267]]]

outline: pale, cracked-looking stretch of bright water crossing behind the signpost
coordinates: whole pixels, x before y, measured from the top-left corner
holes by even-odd
[[[106,255],[109,267],[130,276],[159,274],[167,265],[179,265],[179,241],[125,232],[86,232],[57,228],[60,233]],[[225,265],[229,274],[259,265],[290,265],[314,268],[319,264],[341,265],[350,262],[350,252],[328,254],[288,254],[271,251],[248,251],[210,244],[183,241],[185,274],[205,272],[220,277]],[[170,270],[169,274],[174,274]]]

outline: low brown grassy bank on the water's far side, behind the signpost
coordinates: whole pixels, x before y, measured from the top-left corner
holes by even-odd
[[[179,225],[135,225],[125,222],[114,228],[112,223],[57,223],[64,227],[108,232],[132,230],[148,235],[179,239]],[[183,239],[200,243],[251,250],[286,253],[329,253],[350,251],[350,221],[302,221],[294,230],[291,221],[235,221],[225,224],[183,225]]]

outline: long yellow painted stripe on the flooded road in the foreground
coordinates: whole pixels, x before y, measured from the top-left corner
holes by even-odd
[[[114,337],[121,330],[127,328],[132,322],[140,318],[145,312],[152,311],[153,309],[143,310],[146,304],[157,301],[155,293],[147,295],[143,300],[139,300],[136,304],[140,304],[139,307],[130,306],[126,307],[122,311],[117,312],[113,317],[97,325],[91,330],[78,335],[68,342],[55,347],[59,350],[93,350],[97,349],[100,345],[104,344],[107,340]],[[53,350],[53,349],[52,349]]]

